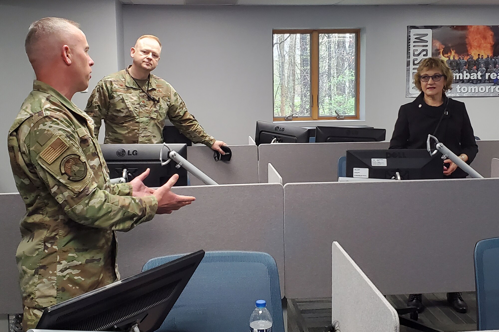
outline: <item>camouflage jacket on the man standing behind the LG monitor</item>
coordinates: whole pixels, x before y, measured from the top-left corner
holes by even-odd
[[[184,101],[168,82],[150,74],[147,92],[159,102],[150,100],[127,70],[100,80],[85,109],[94,121],[95,137],[98,137],[104,120],[106,144],[163,143],[163,127],[168,116],[173,125],[194,143],[209,147],[215,143],[215,139],[187,111]]]

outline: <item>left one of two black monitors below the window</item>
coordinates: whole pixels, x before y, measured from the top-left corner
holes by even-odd
[[[284,124],[256,121],[256,145],[274,143],[308,143],[308,129]]]

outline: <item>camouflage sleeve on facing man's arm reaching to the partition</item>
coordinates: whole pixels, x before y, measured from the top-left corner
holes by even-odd
[[[186,104],[173,87],[171,103],[168,108],[167,115],[173,125],[194,143],[202,143],[210,148],[213,143],[215,143],[215,138],[208,135],[203,127],[201,127],[198,120],[196,120],[194,116],[189,113],[186,108]]]

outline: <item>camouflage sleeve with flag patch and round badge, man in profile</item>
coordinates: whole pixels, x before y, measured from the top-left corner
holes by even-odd
[[[26,140],[36,173],[71,220],[126,232],[154,217],[156,197],[118,196],[99,188],[92,170],[98,165],[87,160],[68,120],[44,116],[31,127]]]

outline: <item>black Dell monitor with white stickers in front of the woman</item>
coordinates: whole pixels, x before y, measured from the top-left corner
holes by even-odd
[[[444,178],[442,154],[425,149],[347,150],[346,176],[402,180]]]

